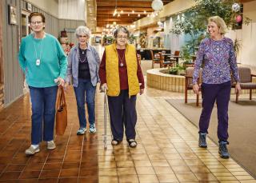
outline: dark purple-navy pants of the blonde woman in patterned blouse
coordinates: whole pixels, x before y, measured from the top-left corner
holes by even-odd
[[[216,101],[218,109],[218,140],[227,141],[229,137],[228,106],[230,90],[230,82],[222,84],[202,83],[202,113],[199,120],[199,133],[208,133],[210,115]]]

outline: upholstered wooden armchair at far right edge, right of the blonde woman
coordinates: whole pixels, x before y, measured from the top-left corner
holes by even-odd
[[[250,68],[238,67],[240,77],[240,86],[242,90],[250,90],[250,100],[252,99],[252,90],[256,90],[256,83],[252,82],[256,75],[251,74]],[[235,102],[238,103],[238,93],[236,93]]]

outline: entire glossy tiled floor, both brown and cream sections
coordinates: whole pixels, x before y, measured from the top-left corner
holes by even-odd
[[[143,63],[142,63],[143,65]],[[190,96],[194,98],[194,95]],[[218,157],[218,147],[198,148],[198,129],[166,102],[182,93],[146,89],[138,96],[137,141],[113,148],[107,123],[103,145],[103,93],[97,93],[96,134],[77,136],[78,117],[73,90],[68,90],[68,127],[56,137],[57,149],[26,157],[30,145],[30,99],[26,95],[0,112],[1,182],[256,182],[231,158]]]

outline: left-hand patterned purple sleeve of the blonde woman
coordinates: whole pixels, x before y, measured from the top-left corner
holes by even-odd
[[[205,44],[204,42],[202,41],[200,43],[200,46],[199,46],[199,49],[198,49],[198,53],[197,53],[197,59],[196,61],[194,62],[194,74],[193,74],[193,85],[198,83],[198,78],[199,78],[199,70],[200,70],[200,67],[202,65],[202,60],[203,60],[203,57],[204,57],[204,47],[205,47]]]

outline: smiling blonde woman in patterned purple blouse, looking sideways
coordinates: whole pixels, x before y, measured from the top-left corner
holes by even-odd
[[[194,65],[193,90],[199,92],[198,77],[202,66],[202,113],[199,120],[199,147],[206,148],[206,134],[210,122],[210,114],[217,103],[218,109],[218,143],[220,156],[229,158],[226,148],[229,144],[228,135],[228,105],[230,101],[231,76],[236,82],[235,92],[240,93],[238,66],[233,42],[224,37],[226,23],[218,16],[208,19],[207,32],[210,38],[202,40]]]

